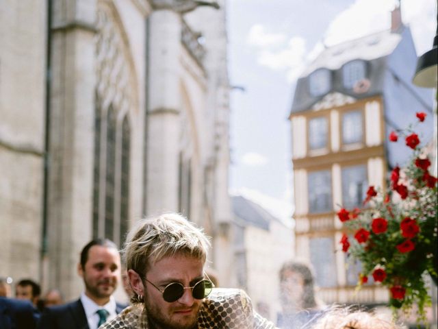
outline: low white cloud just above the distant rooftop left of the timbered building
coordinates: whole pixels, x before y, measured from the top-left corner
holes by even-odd
[[[287,193],[285,193],[286,195]],[[260,191],[251,188],[241,187],[230,191],[230,195],[242,195],[250,201],[258,204],[274,217],[280,219],[286,225],[293,225],[292,218],[292,199],[276,199]]]

